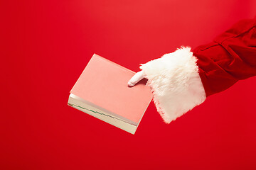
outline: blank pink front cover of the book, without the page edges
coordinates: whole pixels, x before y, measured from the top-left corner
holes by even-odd
[[[99,55],[93,55],[70,91],[107,111],[139,123],[152,94],[149,86],[127,82],[135,73]]]

